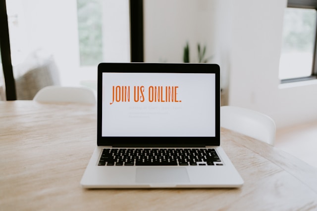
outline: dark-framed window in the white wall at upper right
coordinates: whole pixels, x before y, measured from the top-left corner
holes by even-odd
[[[316,79],[317,1],[289,0],[287,6],[279,79],[281,83]]]

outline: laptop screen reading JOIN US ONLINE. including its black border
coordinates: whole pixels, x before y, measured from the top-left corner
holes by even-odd
[[[101,140],[138,137],[146,143],[151,137],[161,143],[169,137],[186,143],[218,135],[217,65],[102,63],[98,68]]]

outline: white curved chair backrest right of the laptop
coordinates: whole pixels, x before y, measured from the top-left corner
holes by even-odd
[[[274,145],[276,127],[272,118],[235,106],[220,107],[220,126]]]

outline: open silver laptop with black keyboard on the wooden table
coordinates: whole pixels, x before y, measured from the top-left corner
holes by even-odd
[[[101,63],[97,146],[84,188],[232,188],[243,179],[220,146],[220,68]]]

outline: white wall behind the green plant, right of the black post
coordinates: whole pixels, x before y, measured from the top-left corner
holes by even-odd
[[[191,62],[198,61],[198,42],[213,55],[214,9],[211,0],[144,0],[144,60],[183,62],[186,42]]]

